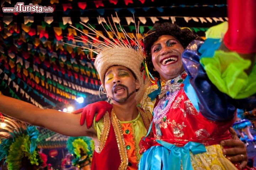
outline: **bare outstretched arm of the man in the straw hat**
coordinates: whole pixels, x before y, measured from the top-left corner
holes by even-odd
[[[90,136],[94,128],[80,126],[80,114],[70,114],[53,109],[40,109],[30,103],[0,95],[0,112],[31,125],[48,128],[66,136]]]

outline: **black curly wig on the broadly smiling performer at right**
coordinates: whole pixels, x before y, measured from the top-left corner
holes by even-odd
[[[156,78],[160,78],[160,75],[157,71],[153,70],[154,66],[151,59],[151,46],[156,40],[158,40],[160,36],[173,36],[181,43],[184,49],[193,40],[202,40],[196,33],[193,33],[190,29],[180,29],[177,24],[172,24],[171,22],[156,22],[153,29],[150,30],[148,34],[149,35],[144,37],[144,53],[146,54],[146,64],[148,66],[148,70],[152,74],[152,76]]]

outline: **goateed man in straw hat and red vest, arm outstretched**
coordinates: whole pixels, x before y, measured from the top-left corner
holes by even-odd
[[[116,26],[114,26],[116,28]],[[89,27],[88,27],[89,28]],[[89,28],[91,29],[91,28]],[[98,32],[91,29],[95,34]],[[138,39],[119,39],[119,33],[111,26],[117,37],[102,42],[87,44],[97,47],[88,49],[97,53],[95,67],[102,87],[112,100],[113,109],[99,122],[87,129],[80,126],[79,114],[63,113],[53,109],[40,109],[32,104],[0,95],[0,112],[29,124],[48,128],[66,136],[90,136],[95,141],[91,169],[138,169],[140,160],[139,141],[150,126],[151,113],[137,107],[148,85],[144,76],[142,48]],[[127,34],[123,31],[124,35]],[[86,34],[90,37],[89,34]],[[92,38],[92,37],[91,37]],[[93,39],[93,38],[92,38]],[[137,45],[135,50],[131,44]],[[107,43],[105,43],[108,41]]]

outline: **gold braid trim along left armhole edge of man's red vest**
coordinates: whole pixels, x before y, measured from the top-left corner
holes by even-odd
[[[110,116],[109,116],[109,113],[106,112],[106,114],[103,116],[103,127],[100,135],[99,145],[94,146],[96,153],[101,153],[103,147],[106,144],[109,131],[110,131]]]

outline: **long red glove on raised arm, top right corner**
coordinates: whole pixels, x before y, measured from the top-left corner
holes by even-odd
[[[256,53],[256,0],[228,0],[225,46],[240,54]]]

